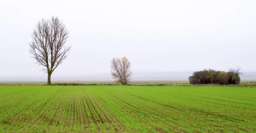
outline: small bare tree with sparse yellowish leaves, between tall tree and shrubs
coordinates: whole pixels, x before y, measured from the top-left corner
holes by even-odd
[[[113,58],[111,60],[111,75],[115,82],[126,85],[131,80],[131,62],[127,57]]]

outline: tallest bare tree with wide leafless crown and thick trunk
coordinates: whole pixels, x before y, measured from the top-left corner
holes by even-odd
[[[67,58],[70,51],[71,46],[64,47],[68,34],[64,23],[54,16],[50,20],[43,18],[32,33],[29,53],[43,66],[42,71],[48,74],[47,85],[51,85],[52,72]]]

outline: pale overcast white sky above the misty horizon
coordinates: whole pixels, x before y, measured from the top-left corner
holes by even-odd
[[[45,76],[30,57],[41,18],[70,31],[55,76],[110,73],[126,56],[134,72],[256,70],[256,0],[1,0],[0,77]]]

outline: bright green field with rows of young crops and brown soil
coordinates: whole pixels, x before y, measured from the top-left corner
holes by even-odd
[[[0,86],[0,133],[256,133],[256,88]]]

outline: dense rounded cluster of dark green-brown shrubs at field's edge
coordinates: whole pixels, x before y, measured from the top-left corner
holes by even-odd
[[[215,71],[212,69],[204,69],[203,71],[195,71],[189,76],[189,83],[198,84],[221,84],[221,85],[238,85],[240,83],[240,73],[234,71]]]

